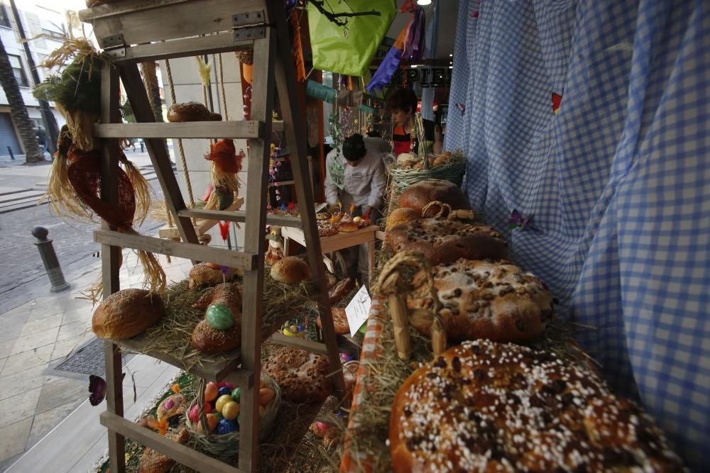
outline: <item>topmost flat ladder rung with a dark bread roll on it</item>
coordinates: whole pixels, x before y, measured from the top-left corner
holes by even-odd
[[[263,138],[263,123],[189,121],[181,123],[98,123],[97,138]]]

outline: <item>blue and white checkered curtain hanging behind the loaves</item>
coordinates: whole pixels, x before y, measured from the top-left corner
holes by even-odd
[[[461,0],[445,148],[620,394],[710,445],[710,1]],[[552,94],[562,96],[553,113]],[[532,214],[508,230],[511,211]]]

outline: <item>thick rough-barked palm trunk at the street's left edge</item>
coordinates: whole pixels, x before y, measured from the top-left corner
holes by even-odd
[[[26,162],[44,161],[37,135],[35,135],[35,129],[27,113],[25,101],[22,99],[20,87],[17,85],[15,74],[12,72],[12,66],[2,40],[0,40],[0,84],[10,105],[12,121],[20,133],[20,138],[25,148]]]

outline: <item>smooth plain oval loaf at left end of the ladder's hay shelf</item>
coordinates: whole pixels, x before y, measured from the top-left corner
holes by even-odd
[[[124,289],[107,297],[94,311],[92,330],[99,338],[123,340],[155,325],[165,304],[158,294],[145,289]]]

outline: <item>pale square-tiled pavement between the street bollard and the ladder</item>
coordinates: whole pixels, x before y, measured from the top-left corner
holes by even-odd
[[[143,274],[135,255],[124,250],[124,257],[121,287],[140,287]],[[161,262],[169,281],[183,279],[191,266],[177,258],[170,265],[163,257]],[[0,315],[0,472],[87,399],[86,375],[53,368],[94,338],[92,305],[77,299],[96,281],[99,263],[94,269],[70,281],[70,291],[40,296]]]

